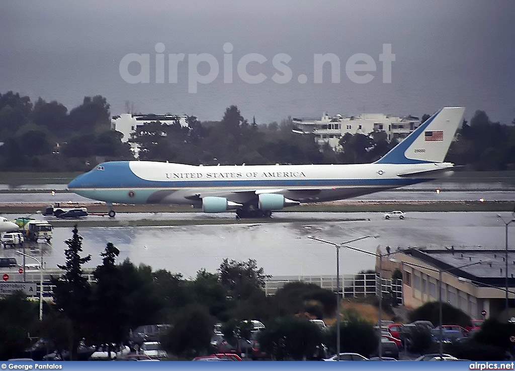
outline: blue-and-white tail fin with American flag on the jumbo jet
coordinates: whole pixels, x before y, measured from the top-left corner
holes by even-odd
[[[443,162],[465,107],[444,107],[375,163]]]

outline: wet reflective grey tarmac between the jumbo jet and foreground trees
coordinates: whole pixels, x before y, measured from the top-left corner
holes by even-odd
[[[352,244],[374,252],[377,245],[408,246],[483,246],[504,249],[505,226],[492,212],[411,212],[404,220],[385,220],[381,213],[275,213],[281,223],[239,222],[230,225],[188,225],[173,227],[84,227],[84,255],[92,261],[85,267],[101,263],[99,254],[108,242],[119,250],[118,262],[129,258],[136,265],[152,269],[167,269],[194,277],[202,268],[216,272],[224,258],[235,261],[255,259],[266,274],[324,275],[335,272],[335,249],[307,236],[316,236],[342,243],[366,235],[379,235]],[[510,217],[509,213],[506,217]],[[6,215],[8,218],[16,215]],[[42,217],[42,216],[38,216]],[[205,218],[199,213],[118,213],[116,218]],[[230,213],[210,215],[210,218],[230,218]],[[100,217],[99,217],[100,218]],[[312,219],[312,222],[306,219]],[[334,218],[364,218],[361,221],[325,221]],[[297,219],[297,221],[296,221]],[[370,219],[370,220],[368,220]],[[64,240],[72,236],[72,228],[55,228],[51,246],[44,248],[47,269],[64,262]],[[509,240],[515,240],[515,229],[509,230]],[[511,243],[511,245],[513,245]],[[30,251],[27,247],[27,251]],[[38,256],[38,250],[31,254]],[[13,249],[3,249],[2,256],[16,256]],[[20,259],[19,259],[20,261]],[[364,253],[340,250],[342,274],[374,268],[374,258]],[[1,270],[0,270],[1,272]]]

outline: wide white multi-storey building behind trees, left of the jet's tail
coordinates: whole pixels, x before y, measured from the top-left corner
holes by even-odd
[[[330,117],[324,113],[320,119],[294,118],[293,124],[295,133],[315,134],[318,145],[329,143],[333,149],[337,149],[338,141],[346,133],[368,135],[371,132],[385,131],[389,141],[400,141],[420,125],[420,119],[414,116],[397,117],[384,114]]]

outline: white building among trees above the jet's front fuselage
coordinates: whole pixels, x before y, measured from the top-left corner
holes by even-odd
[[[177,121],[181,126],[188,126],[186,115],[132,115],[122,114],[111,118],[111,130],[122,133],[124,136],[122,142],[126,143],[132,133],[135,133],[136,127],[150,122],[159,121],[165,125],[173,125]],[[138,158],[138,146],[131,143],[131,150],[134,156]]]

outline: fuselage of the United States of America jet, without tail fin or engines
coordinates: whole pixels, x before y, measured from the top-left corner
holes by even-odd
[[[152,161],[100,164],[68,188],[85,197],[121,203],[195,203],[207,196],[246,202],[277,193],[300,202],[355,197],[431,180],[441,174],[399,176],[452,168],[450,163],[194,166]]]

